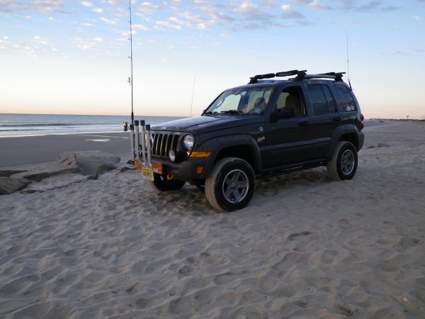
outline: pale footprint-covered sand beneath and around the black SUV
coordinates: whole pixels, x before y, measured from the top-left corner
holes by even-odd
[[[234,213],[135,171],[1,196],[0,318],[425,318],[425,123],[376,124],[352,181],[259,181]]]

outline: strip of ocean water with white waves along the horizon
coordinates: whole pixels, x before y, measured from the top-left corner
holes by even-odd
[[[176,116],[135,116],[147,124],[177,120]],[[56,114],[1,114],[0,138],[24,135],[123,132],[130,116],[85,116]]]

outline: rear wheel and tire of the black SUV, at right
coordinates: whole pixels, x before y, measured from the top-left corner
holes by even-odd
[[[329,177],[334,181],[352,179],[357,171],[357,149],[351,142],[341,141],[336,145],[334,155],[327,162]]]

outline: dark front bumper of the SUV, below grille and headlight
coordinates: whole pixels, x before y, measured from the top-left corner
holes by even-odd
[[[180,181],[195,181],[196,179],[205,179],[206,174],[208,174],[208,159],[210,157],[189,157],[182,162],[176,163],[168,159],[152,157],[152,163],[162,164],[162,175],[173,175],[175,179],[179,179]],[[202,167],[201,172],[200,167]]]

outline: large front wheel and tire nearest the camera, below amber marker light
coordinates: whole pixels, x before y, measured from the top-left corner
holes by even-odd
[[[225,157],[215,163],[205,180],[205,195],[216,211],[237,211],[254,196],[255,173],[244,159]]]

